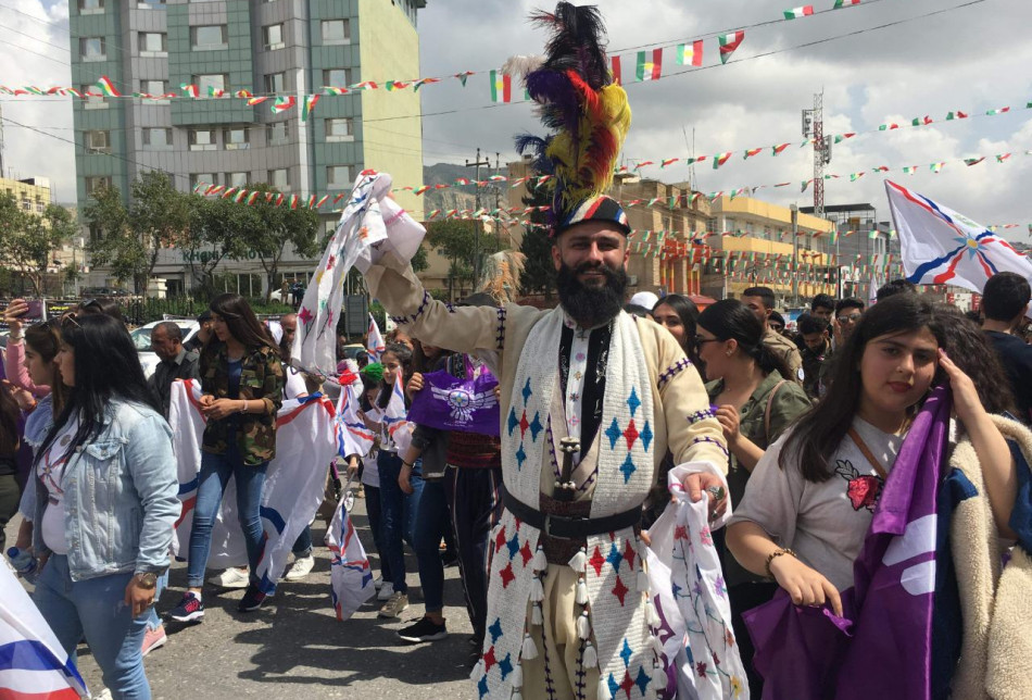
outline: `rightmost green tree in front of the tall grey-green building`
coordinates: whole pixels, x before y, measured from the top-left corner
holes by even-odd
[[[260,192],[276,191],[268,185],[255,185],[251,189]],[[301,207],[288,209],[274,207],[259,197],[260,203],[249,208],[256,213],[255,224],[244,233],[247,248],[253,250],[262,270],[265,271],[265,303],[273,293],[273,282],[279,272],[279,263],[289,243],[302,258],[315,258],[319,253],[319,216],[313,210]]]

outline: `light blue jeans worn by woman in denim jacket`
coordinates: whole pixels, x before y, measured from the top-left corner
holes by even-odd
[[[143,673],[143,634],[147,613],[133,617],[125,604],[131,572],[73,582],[68,558],[53,554],[43,566],[33,600],[73,660],[86,637],[104,685],[116,700],[150,700]]]

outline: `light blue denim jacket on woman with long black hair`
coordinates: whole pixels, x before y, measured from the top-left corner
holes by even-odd
[[[179,484],[172,430],[152,409],[112,401],[100,434],[76,448],[64,489],[68,568],[73,580],[124,572],[163,573],[179,517]],[[38,473],[34,521],[42,522],[47,487]],[[40,527],[33,549],[49,553]]]

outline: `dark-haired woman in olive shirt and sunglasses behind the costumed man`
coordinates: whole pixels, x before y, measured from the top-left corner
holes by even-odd
[[[718,301],[699,315],[695,342],[709,379],[706,391],[731,453],[728,487],[732,508],[742,500],[764,450],[810,408],[806,392],[786,379],[791,376],[788,367],[764,343],[763,336],[763,324],[737,299]],[[721,540],[717,538],[731,624],[750,675],[750,688],[759,697],[762,686],[752,672],[753,647],[742,613],[770,600],[778,587],[742,568]]]

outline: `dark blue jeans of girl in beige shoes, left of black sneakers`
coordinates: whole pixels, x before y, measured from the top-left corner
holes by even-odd
[[[407,540],[411,545],[414,541],[413,527],[415,526],[415,514],[418,510],[419,497],[423,493],[423,476],[420,464],[412,472],[410,483],[415,489],[412,495],[405,493],[398,485],[398,477],[401,474],[401,458],[393,452],[381,450],[376,458],[376,466],[380,474],[380,547],[383,551],[383,558],[387,560],[390,570],[390,582],[394,586],[394,592],[408,592],[408,585],[405,583],[405,552],[402,540]],[[385,578],[386,580],[386,578]]]

